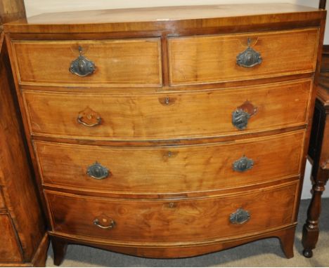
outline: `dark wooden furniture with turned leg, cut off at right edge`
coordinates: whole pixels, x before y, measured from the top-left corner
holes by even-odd
[[[323,58],[328,58],[329,47],[325,46]],[[311,177],[314,180],[313,194],[307,222],[303,229],[302,243],[305,257],[312,257],[312,250],[318,241],[318,218],[321,213],[321,195],[329,179],[329,74],[323,61],[320,86],[317,88],[317,99],[314,110],[314,123],[311,132],[309,157],[313,162]]]

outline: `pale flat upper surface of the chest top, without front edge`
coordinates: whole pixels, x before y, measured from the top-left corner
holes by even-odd
[[[125,8],[98,11],[45,13],[27,18],[29,24],[88,24],[117,22],[156,22],[202,18],[227,18],[269,13],[317,11],[316,8],[292,4],[235,4],[211,6],[167,6],[154,8]]]

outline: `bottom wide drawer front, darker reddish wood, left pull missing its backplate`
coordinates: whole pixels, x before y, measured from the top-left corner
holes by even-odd
[[[296,192],[297,182],[201,199],[96,199],[47,191],[46,198],[54,232],[128,243],[183,243],[244,236],[291,224]],[[250,220],[231,223],[231,214],[239,208],[247,211]],[[240,221],[247,220],[245,211]]]

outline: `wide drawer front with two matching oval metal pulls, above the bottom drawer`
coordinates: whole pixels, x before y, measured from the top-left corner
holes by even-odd
[[[303,140],[304,130],[196,146],[98,147],[34,141],[34,148],[46,185],[165,193],[226,189],[298,175]]]

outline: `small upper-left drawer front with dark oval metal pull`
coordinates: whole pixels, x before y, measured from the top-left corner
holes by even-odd
[[[13,41],[12,46],[21,84],[162,84],[160,39]],[[82,61],[78,60],[80,54],[84,57],[80,58]],[[75,60],[72,72],[77,74],[70,72]],[[80,68],[77,67],[79,62],[82,63]]]

